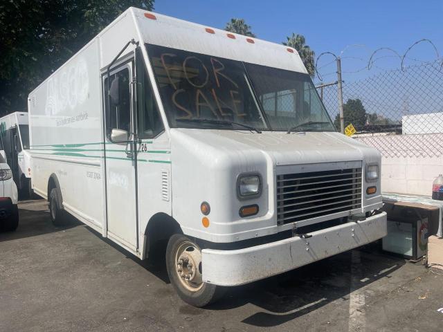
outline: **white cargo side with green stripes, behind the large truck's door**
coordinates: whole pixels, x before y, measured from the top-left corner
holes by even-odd
[[[95,39],[30,93],[30,154],[33,187],[47,196],[55,174],[69,212],[102,225],[100,194],[102,116],[98,41]]]

